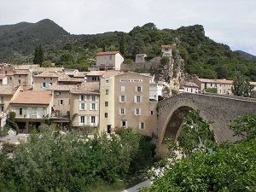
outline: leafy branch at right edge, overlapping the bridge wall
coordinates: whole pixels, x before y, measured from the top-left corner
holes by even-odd
[[[229,126],[235,132],[235,136],[247,139],[256,137],[256,116],[253,114],[239,116]]]

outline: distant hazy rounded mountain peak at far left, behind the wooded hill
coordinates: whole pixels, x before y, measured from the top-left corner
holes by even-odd
[[[61,26],[48,19],[0,26],[0,61],[32,55],[38,44],[44,44],[46,48],[60,47],[69,36]]]

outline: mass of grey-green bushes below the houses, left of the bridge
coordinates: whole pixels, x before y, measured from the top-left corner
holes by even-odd
[[[90,191],[125,181],[151,166],[154,147],[148,137],[130,130],[118,136],[95,133],[89,138],[76,131],[60,134],[42,125],[0,164],[0,178],[17,191]],[[1,161],[2,162],[2,161]]]

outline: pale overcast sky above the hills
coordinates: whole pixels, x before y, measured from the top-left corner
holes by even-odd
[[[0,25],[49,19],[71,34],[204,26],[206,36],[256,55],[256,0],[0,0]]]

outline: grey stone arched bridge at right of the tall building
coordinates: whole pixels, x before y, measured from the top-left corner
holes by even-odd
[[[172,96],[158,103],[158,125],[157,125],[157,154],[166,154],[167,148],[165,137],[177,137],[180,124],[175,121],[181,119],[177,115],[189,109],[200,110],[201,117],[207,121],[213,121],[210,129],[214,131],[217,143],[224,141],[234,142],[238,137],[233,137],[233,131],[228,124],[247,113],[256,114],[256,100],[237,96],[220,96],[217,94],[191,94],[182,93]],[[184,115],[186,113],[182,113]],[[174,126],[173,126],[174,125]],[[176,126],[176,128],[174,128]],[[175,129],[175,131],[173,131]]]

